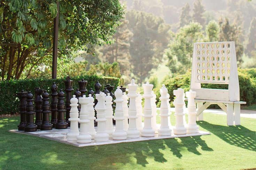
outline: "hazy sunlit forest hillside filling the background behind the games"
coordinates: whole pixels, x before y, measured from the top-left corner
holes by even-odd
[[[125,11],[113,40],[59,56],[57,77],[103,75],[155,85],[191,69],[193,43],[235,41],[238,66],[256,66],[256,1],[120,0]],[[19,79],[51,78],[51,54]],[[2,70],[0,70],[2,71]],[[1,74],[2,80],[15,79]],[[167,77],[166,77],[167,76]]]

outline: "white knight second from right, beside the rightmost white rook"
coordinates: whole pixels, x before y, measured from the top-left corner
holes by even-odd
[[[176,125],[173,128],[174,134],[186,134],[187,129],[184,126],[184,90],[182,88],[178,88],[178,90],[173,90],[173,94],[176,96],[176,99],[173,101],[175,106],[175,114],[176,115]]]

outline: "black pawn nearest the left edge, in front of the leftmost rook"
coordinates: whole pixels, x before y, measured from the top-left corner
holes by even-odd
[[[37,131],[37,125],[34,124],[34,105],[33,105],[33,94],[29,91],[26,95],[26,126],[24,131]]]

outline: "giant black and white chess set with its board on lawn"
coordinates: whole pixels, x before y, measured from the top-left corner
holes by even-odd
[[[53,83],[51,87],[52,99],[49,103],[49,94],[40,88],[33,94],[25,91],[17,93],[20,99],[21,122],[14,133],[23,133],[75,146],[102,145],[121,142],[146,141],[173,137],[186,137],[208,135],[210,133],[199,131],[196,125],[196,107],[194,98],[196,92],[186,92],[188,98],[187,114],[185,119],[184,108],[185,93],[179,88],[174,90],[176,125],[170,121],[170,95],[165,85],[160,89],[161,101],[160,115],[157,115],[156,95],[152,91],[153,84],[143,84],[143,95],[137,92],[138,85],[134,79],[125,87],[107,84],[103,92],[101,85],[96,82],[94,88],[88,91],[84,79],[78,82],[79,89],[71,97],[73,91],[70,77],[64,81],[65,92]],[[128,94],[126,94],[128,91]],[[95,98],[94,98],[95,97]],[[142,97],[145,100],[142,107]],[[65,99],[65,101],[64,101]],[[34,122],[34,113],[36,120]],[[51,121],[49,114],[51,113]],[[157,116],[161,117],[161,124],[156,123]],[[142,122],[142,117],[144,122]]]

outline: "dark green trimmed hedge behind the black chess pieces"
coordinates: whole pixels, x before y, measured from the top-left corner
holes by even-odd
[[[97,80],[99,80],[101,86],[101,90],[104,90],[105,84],[111,84],[115,86],[115,88],[119,85],[119,78],[115,77],[102,77],[102,76],[76,76],[71,77],[73,80],[73,93],[76,91],[78,86],[78,81],[81,79],[87,80],[86,88],[90,90],[93,88],[94,84]],[[9,80],[9,81],[0,81],[0,114],[7,113],[16,113],[18,112],[19,100],[17,97],[17,92],[21,90],[31,91],[34,95],[34,88],[40,87],[41,89],[47,90],[47,92],[51,93],[52,83],[55,82],[58,86],[58,92],[60,89],[65,89],[64,80],[66,78],[59,79],[25,79],[25,80]]]

